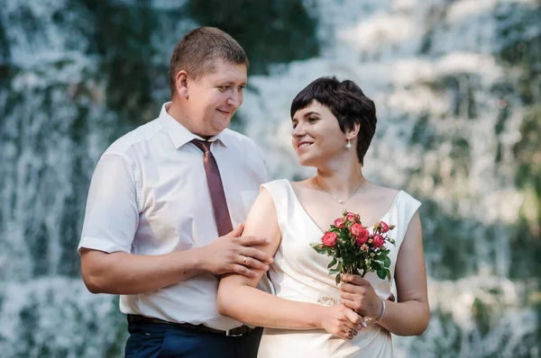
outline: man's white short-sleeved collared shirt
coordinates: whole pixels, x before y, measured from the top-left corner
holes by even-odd
[[[78,249],[161,255],[206,246],[218,237],[203,153],[190,143],[201,138],[170,117],[169,105],[100,158]],[[267,168],[261,149],[240,133],[224,130],[209,141],[236,227],[245,221],[260,184],[268,181]],[[121,295],[120,309],[222,330],[241,326],[218,314],[217,286],[215,275],[202,273],[158,291]]]

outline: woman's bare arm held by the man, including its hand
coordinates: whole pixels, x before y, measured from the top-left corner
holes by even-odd
[[[280,246],[280,228],[271,194],[262,189],[246,219],[243,235],[271,238],[271,243],[256,246],[268,255]],[[261,327],[286,329],[324,328],[334,336],[352,339],[350,328],[358,331],[360,319],[343,305],[325,307],[316,303],[297,302],[273,296],[256,288],[263,272],[256,278],[227,274],[220,281],[217,306],[220,314]],[[351,321],[350,321],[351,319]],[[356,321],[357,324],[353,323]]]

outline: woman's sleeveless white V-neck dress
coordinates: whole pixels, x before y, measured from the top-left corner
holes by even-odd
[[[317,254],[310,246],[319,241],[324,232],[304,210],[288,180],[276,180],[263,186],[271,193],[282,235],[274,263],[269,270],[276,295],[288,300],[312,303],[323,296],[339,299],[340,290],[335,283],[335,276],[329,275],[327,268],[331,258]],[[419,206],[420,202],[407,192],[399,192],[389,211],[381,218],[389,225],[396,225],[390,231],[390,237],[396,240],[396,246],[389,247],[391,282],[394,282],[400,244]],[[368,273],[365,279],[371,282],[380,296],[390,296],[391,282],[381,280],[376,273]],[[391,356],[390,333],[378,324],[370,323],[352,341],[331,336],[322,329],[297,331],[265,328],[258,353],[259,358]]]

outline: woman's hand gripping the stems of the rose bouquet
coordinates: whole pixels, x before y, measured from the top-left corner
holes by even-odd
[[[382,303],[370,282],[354,274],[343,274],[342,281],[340,297],[345,307],[365,318],[380,317]]]

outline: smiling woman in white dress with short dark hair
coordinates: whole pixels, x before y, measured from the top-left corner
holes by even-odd
[[[376,129],[374,103],[352,81],[322,77],[291,104],[292,144],[301,166],[317,174],[298,183],[262,185],[243,235],[270,237],[262,246],[274,255],[269,270],[272,296],[255,287],[261,278],[227,275],[218,289],[218,310],[247,324],[266,327],[259,357],[390,357],[390,333],[422,334],[428,324],[426,269],[420,202],[406,192],[368,182],[363,158]],[[388,164],[390,165],[390,164]],[[309,245],[348,211],[363,225],[396,225],[390,237],[391,283],[377,274],[343,275],[341,286],[328,273],[330,258]],[[340,304],[324,306],[323,298]]]

